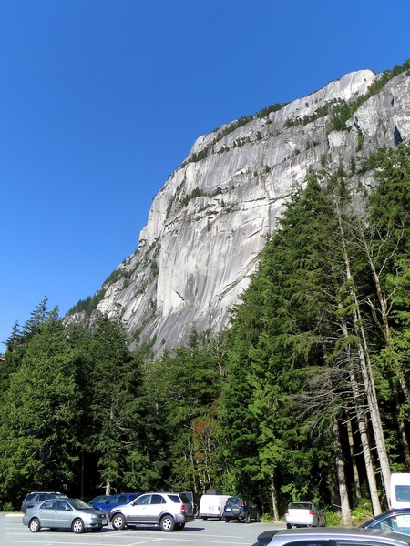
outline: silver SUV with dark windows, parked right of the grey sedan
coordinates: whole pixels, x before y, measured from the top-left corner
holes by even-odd
[[[184,493],[147,493],[113,508],[110,519],[116,530],[151,525],[162,531],[181,531],[187,521],[194,521],[194,512]]]

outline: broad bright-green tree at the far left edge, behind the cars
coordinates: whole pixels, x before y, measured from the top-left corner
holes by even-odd
[[[75,479],[81,393],[78,354],[56,311],[26,343],[0,410],[0,496],[13,501]]]

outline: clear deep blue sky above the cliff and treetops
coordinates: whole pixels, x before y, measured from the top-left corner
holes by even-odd
[[[198,136],[409,57],[409,0],[1,0],[0,341],[100,288]]]

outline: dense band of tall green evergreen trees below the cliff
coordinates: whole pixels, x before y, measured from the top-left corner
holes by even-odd
[[[153,359],[100,315],[45,298],[0,361],[0,507],[29,490],[241,494],[279,520],[316,501],[350,524],[410,470],[410,145],[295,188],[231,328]],[[357,188],[356,188],[357,190]]]

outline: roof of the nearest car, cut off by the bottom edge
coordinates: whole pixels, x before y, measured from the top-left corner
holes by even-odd
[[[410,546],[410,537],[376,529],[274,529],[262,532],[253,546]]]

